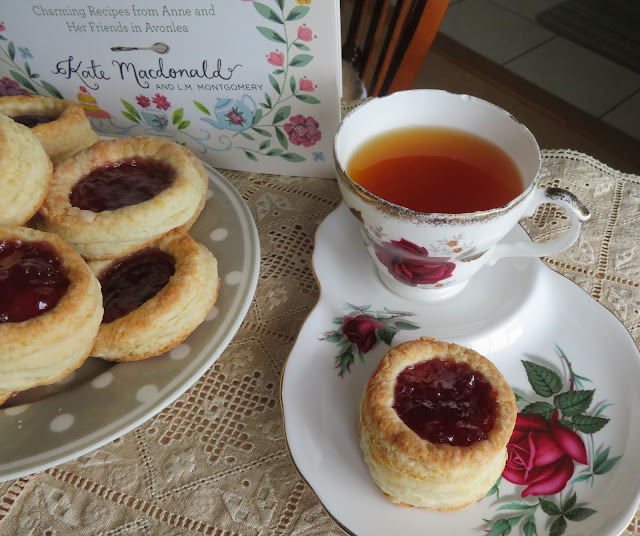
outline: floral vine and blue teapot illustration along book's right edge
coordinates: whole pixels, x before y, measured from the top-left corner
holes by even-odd
[[[287,0],[273,0],[273,7],[252,1],[256,11],[270,26],[257,26],[258,32],[274,43],[265,61],[275,67],[268,75],[271,90],[256,103],[249,95],[239,99],[218,98],[213,106],[194,101],[204,117],[201,120],[218,130],[228,132],[232,148],[252,161],[259,158],[281,158],[287,162],[303,162],[306,157],[296,148],[314,146],[322,139],[320,123],[296,106],[319,104],[311,95],[317,86],[300,69],[313,61],[309,44],[316,38],[302,21],[310,11],[297,2],[289,9]],[[293,34],[295,37],[293,37]],[[230,147],[231,148],[231,147]],[[321,152],[313,161],[323,161]]]

